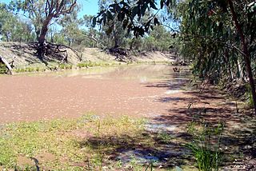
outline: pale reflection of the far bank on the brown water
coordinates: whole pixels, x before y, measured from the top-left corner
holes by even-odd
[[[131,65],[131,66],[110,66],[110,67],[93,67],[81,70],[64,70],[41,74],[29,74],[30,76],[57,77],[57,78],[95,78],[95,79],[126,79],[138,80],[139,82],[158,81],[162,78],[173,78],[170,76],[174,73],[173,66],[167,65]],[[179,74],[179,73],[177,73]],[[182,74],[182,73],[181,73]],[[182,78],[184,79],[184,78]]]

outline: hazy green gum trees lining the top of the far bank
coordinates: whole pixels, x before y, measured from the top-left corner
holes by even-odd
[[[99,0],[99,11],[113,2]],[[46,41],[73,47],[106,49],[122,47],[130,50],[174,50],[170,49],[170,45],[174,45],[175,40],[170,30],[164,26],[156,26],[144,38],[135,38],[123,29],[122,23],[116,18],[108,22],[108,26],[93,27],[93,16],[78,18],[80,10],[82,6],[72,0],[13,0],[10,4],[1,3],[1,41]]]

